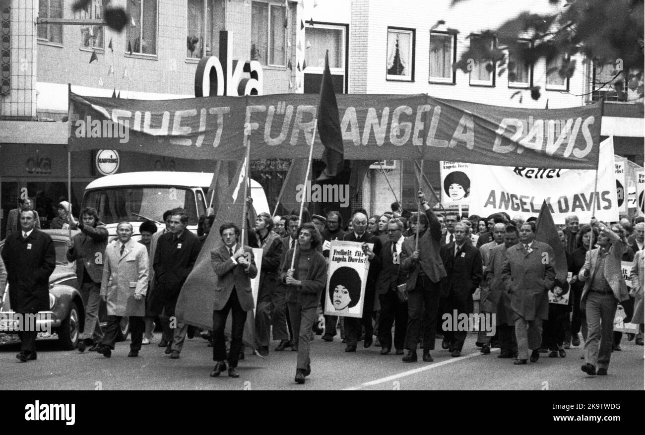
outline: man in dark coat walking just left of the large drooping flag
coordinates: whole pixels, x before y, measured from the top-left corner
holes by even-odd
[[[172,320],[175,316],[175,305],[181,286],[192,271],[197,256],[201,250],[199,238],[186,229],[188,215],[178,212],[168,217],[170,220],[170,233],[159,237],[155,249],[153,267],[155,269],[155,291],[152,295],[151,310],[156,314]],[[184,345],[188,325],[176,322],[172,343],[166,346],[166,354],[170,358],[179,358],[179,353]]]

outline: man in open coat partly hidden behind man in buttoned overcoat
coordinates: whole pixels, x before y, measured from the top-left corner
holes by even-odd
[[[497,226],[497,224],[495,225]],[[484,268],[484,279],[488,289],[485,308],[495,310],[493,313],[495,313],[495,325],[501,348],[497,358],[514,358],[517,355],[515,314],[511,309],[511,296],[506,291],[506,285],[502,279],[502,270],[504,262],[506,262],[506,250],[517,245],[518,240],[519,230],[517,227],[507,226],[504,230],[504,243],[491,249]]]

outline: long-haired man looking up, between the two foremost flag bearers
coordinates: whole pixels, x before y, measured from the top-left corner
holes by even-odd
[[[260,267],[260,288],[257,293],[255,309],[255,340],[259,354],[269,354],[271,333],[271,298],[277,285],[280,262],[283,258],[283,242],[279,235],[272,231],[273,220],[268,213],[260,213],[255,220],[255,229],[249,230],[250,247],[262,249],[262,266]]]

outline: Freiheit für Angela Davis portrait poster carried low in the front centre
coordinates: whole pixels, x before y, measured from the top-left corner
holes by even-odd
[[[374,244],[367,244],[370,249]],[[324,314],[328,316],[362,317],[365,284],[370,262],[361,249],[361,242],[332,240]]]

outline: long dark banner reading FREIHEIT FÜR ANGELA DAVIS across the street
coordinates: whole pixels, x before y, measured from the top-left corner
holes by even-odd
[[[318,99],[289,93],[143,101],[70,92],[68,146],[70,151],[242,160],[246,131],[254,159],[306,159]],[[577,169],[598,164],[600,104],[540,110],[424,94],[337,95],[337,102],[348,160],[427,159]],[[112,131],[118,125],[127,126],[127,140]],[[319,159],[323,148],[315,140],[313,158]]]

